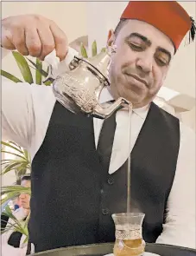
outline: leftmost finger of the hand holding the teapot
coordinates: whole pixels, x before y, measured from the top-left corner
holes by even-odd
[[[15,29],[12,42],[23,56],[28,56],[28,48],[25,43],[25,31],[23,28]]]

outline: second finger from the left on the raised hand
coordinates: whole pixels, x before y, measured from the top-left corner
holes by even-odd
[[[41,40],[36,28],[25,29],[26,45],[30,56],[41,56]]]

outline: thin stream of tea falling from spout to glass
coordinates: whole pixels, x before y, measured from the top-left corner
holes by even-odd
[[[127,164],[127,213],[130,213],[130,182],[131,182],[131,156],[130,156],[130,150],[131,150],[131,115],[132,115],[132,104],[129,104],[129,142],[128,142],[128,152],[129,152],[129,157],[128,157],[128,164]]]

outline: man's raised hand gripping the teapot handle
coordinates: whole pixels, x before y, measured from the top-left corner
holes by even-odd
[[[3,19],[1,44],[5,49],[17,49],[23,56],[35,56],[41,60],[55,49],[61,61],[68,49],[65,33],[53,21],[39,15]]]

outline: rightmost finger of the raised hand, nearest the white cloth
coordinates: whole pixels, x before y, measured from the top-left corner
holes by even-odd
[[[60,61],[62,61],[65,59],[68,50],[66,35],[55,23],[50,24],[50,30],[54,36],[56,56],[58,56]]]

